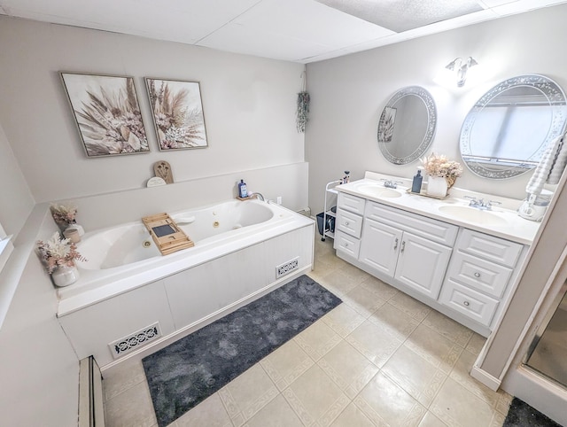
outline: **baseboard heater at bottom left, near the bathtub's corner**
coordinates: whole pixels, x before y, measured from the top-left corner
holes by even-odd
[[[79,362],[79,427],[105,427],[103,377],[89,356]]]

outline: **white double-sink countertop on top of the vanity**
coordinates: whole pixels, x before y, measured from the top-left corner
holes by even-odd
[[[384,189],[384,181],[380,181],[380,174],[368,173],[366,178],[341,184],[335,190],[376,201],[386,206],[400,208],[414,214],[420,214],[439,221],[449,222],[466,229],[474,229],[479,232],[495,237],[502,237],[523,245],[532,245],[533,239],[540,228],[540,222],[525,220],[517,214],[517,206],[520,200],[507,199],[478,192],[452,188],[447,198],[429,198],[408,192],[411,181],[408,179],[395,179],[402,181],[395,190],[400,193],[399,197],[387,197],[387,193],[393,194],[392,190],[386,190],[386,194],[379,193]],[[391,179],[392,177],[384,176]],[[465,195],[485,200],[495,200],[501,203],[492,207],[491,210],[480,210],[470,207],[470,200]]]

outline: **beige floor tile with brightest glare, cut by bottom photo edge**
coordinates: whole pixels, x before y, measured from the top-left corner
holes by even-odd
[[[378,372],[353,401],[377,425],[416,426],[426,412],[417,400],[382,372]]]

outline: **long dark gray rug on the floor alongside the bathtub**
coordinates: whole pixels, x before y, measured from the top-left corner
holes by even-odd
[[[300,276],[142,361],[165,427],[341,303]]]

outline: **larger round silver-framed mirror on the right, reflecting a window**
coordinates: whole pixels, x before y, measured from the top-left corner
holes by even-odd
[[[557,83],[520,75],[490,89],[461,129],[461,155],[485,178],[511,178],[538,165],[549,142],[563,135],[567,106]]]

